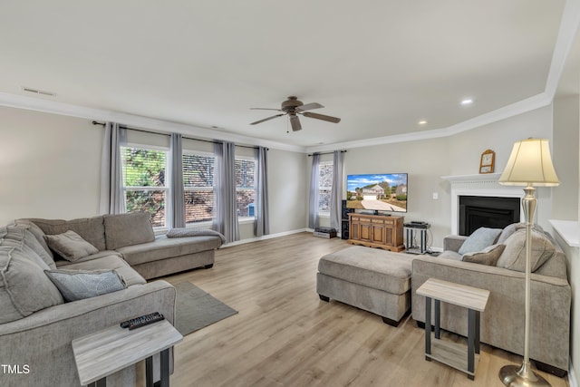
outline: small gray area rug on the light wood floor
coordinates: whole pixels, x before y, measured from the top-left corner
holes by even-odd
[[[237,310],[190,282],[180,282],[174,286],[177,289],[175,327],[184,336],[237,314]]]

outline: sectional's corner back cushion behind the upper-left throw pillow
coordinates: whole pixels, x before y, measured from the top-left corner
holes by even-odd
[[[43,230],[46,235],[63,234],[68,230],[73,230],[82,239],[97,247],[100,251],[106,250],[105,227],[102,223],[102,216],[93,218],[77,218],[72,220],[63,219],[27,219]]]

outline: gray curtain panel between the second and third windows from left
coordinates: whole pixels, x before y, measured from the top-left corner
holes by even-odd
[[[214,145],[214,217],[213,228],[226,237],[226,243],[239,239],[236,208],[236,145],[217,142]]]

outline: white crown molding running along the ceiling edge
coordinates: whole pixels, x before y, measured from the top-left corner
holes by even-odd
[[[562,73],[564,72],[565,61],[574,43],[579,25],[580,0],[566,0],[564,12],[562,14],[562,21],[560,23],[560,28],[556,38],[554,53],[552,54],[552,61],[550,63],[550,68],[546,78],[546,88],[544,92],[536,94],[535,96],[529,97],[525,100],[504,106],[495,111],[481,114],[478,117],[474,117],[467,121],[459,122],[447,128],[434,129],[430,131],[414,131],[410,133],[402,133],[372,139],[335,142],[314,147],[302,147],[272,140],[263,140],[256,137],[242,136],[227,131],[215,131],[209,128],[203,128],[179,122],[163,121],[159,119],[124,113],[121,111],[92,109],[69,103],[48,101],[40,98],[32,98],[5,92],[0,92],[0,106],[8,106],[32,111],[43,111],[53,114],[79,117],[88,120],[114,121],[129,126],[151,129],[155,131],[178,132],[181,134],[193,135],[208,140],[229,140],[242,144],[264,146],[276,150],[288,150],[299,153],[344,150],[407,141],[430,140],[441,137],[449,137],[463,131],[470,131],[481,126],[488,125],[489,123],[505,120],[509,117],[514,117],[527,111],[534,111],[551,104],[556,95],[557,84],[560,80],[560,77],[562,76]]]

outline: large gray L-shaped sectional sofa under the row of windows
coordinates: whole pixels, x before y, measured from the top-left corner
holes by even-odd
[[[146,278],[212,266],[221,243],[215,235],[155,237],[143,213],[0,227],[0,363],[14,371],[0,373],[0,384],[80,385],[73,339],[152,312],[173,323],[175,288]],[[96,280],[79,288],[86,278]],[[142,372],[129,367],[107,385],[134,385]]]

